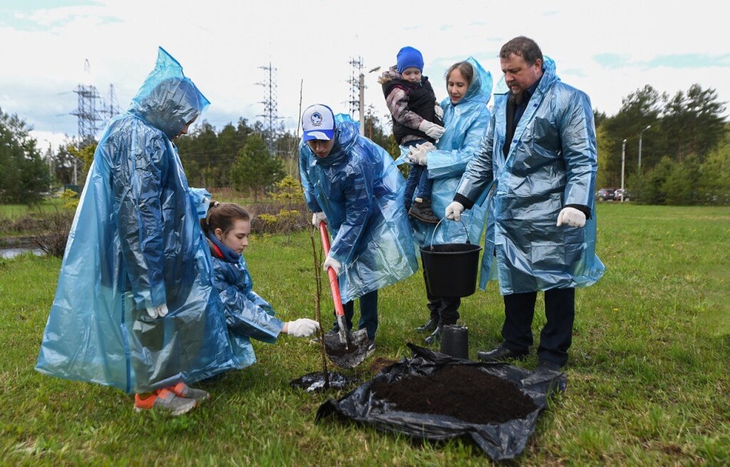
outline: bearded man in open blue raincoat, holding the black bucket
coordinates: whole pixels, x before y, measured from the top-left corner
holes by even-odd
[[[596,257],[596,133],[588,96],[558,79],[555,63],[520,36],[499,53],[508,90],[495,93],[491,129],[466,169],[446,215],[458,220],[495,185],[481,286],[499,279],[504,342],[481,360],[523,358],[532,344],[537,291],[545,291],[547,323],[538,368],[568,360],[575,287],[603,274]]]

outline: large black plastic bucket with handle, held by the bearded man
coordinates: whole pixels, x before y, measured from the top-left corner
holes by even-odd
[[[464,225],[463,222],[461,224]],[[436,225],[437,228],[438,226]],[[431,235],[431,244],[420,248],[420,259],[423,261],[426,288],[429,293],[437,297],[472,295],[477,290],[479,252],[482,247],[470,243],[468,237],[466,243],[437,245],[433,244],[433,239],[434,236]]]

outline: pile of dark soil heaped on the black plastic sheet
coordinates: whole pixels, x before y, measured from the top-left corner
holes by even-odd
[[[450,415],[480,424],[523,418],[537,409],[515,383],[464,365],[393,383],[374,382],[370,390],[401,412]]]

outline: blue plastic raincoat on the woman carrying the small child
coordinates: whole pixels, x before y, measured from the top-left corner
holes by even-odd
[[[428,166],[429,179],[434,180],[434,187],[431,193],[431,209],[440,218],[444,217],[446,207],[453,201],[456,186],[461,175],[466,170],[466,164],[479,152],[489,125],[490,113],[487,103],[492,93],[492,75],[485,71],[482,66],[469,57],[466,59],[474,69],[472,82],[466,95],[452,104],[450,98],[441,102],[444,109],[443,123],[445,133],[437,143],[437,150],[429,151]],[[407,153],[401,155],[399,161],[407,161]],[[433,236],[434,244],[439,243],[464,243],[467,232],[469,241],[479,243],[484,229],[484,220],[487,217],[486,206],[483,206],[483,199],[477,200],[475,206],[461,216],[461,223],[453,223],[445,220],[442,222]],[[431,244],[431,234],[434,233],[434,225],[423,223],[420,220],[410,218],[413,238],[419,246]]]

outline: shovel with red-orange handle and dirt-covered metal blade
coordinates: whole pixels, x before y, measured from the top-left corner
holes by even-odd
[[[320,222],[320,237],[322,239],[322,247],[324,254],[329,254],[329,233],[327,224]],[[325,334],[324,347],[327,356],[332,362],[342,368],[355,368],[368,357],[369,342],[367,339],[367,331],[360,329],[354,333],[350,333],[345,322],[345,309],[342,308],[342,298],[339,296],[339,282],[337,281],[337,273],[334,269],[327,269],[329,275],[329,287],[332,291],[332,301],[334,301],[334,314],[337,316],[337,335]]]

